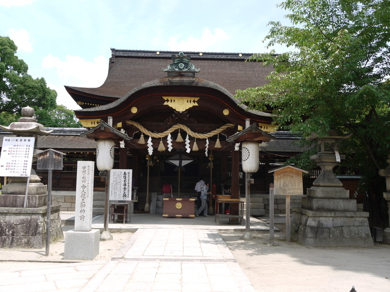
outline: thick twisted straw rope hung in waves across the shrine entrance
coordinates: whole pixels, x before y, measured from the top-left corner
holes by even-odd
[[[209,133],[202,134],[202,133],[193,132],[190,128],[188,128],[185,125],[176,124],[176,125],[172,126],[171,128],[167,129],[166,131],[163,131],[161,133],[155,133],[155,132],[149,131],[148,129],[146,129],[141,124],[139,124],[135,121],[128,120],[128,121],[126,121],[126,124],[137,127],[142,133],[145,133],[146,135],[153,137],[153,138],[163,138],[163,137],[167,136],[168,134],[172,133],[173,131],[175,131],[176,129],[182,129],[182,130],[186,131],[187,134],[189,134],[191,137],[198,138],[198,139],[206,139],[206,138],[213,137],[216,134],[219,134],[220,132],[224,131],[227,128],[234,127],[234,124],[229,123],[229,124],[223,125],[220,128],[217,128]]]

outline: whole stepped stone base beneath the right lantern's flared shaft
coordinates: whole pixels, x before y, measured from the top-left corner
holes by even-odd
[[[301,208],[292,208],[291,237],[306,246],[373,246],[368,212],[342,187],[308,189]]]

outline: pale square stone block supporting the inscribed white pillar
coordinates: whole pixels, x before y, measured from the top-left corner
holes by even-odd
[[[64,259],[93,260],[99,254],[100,230],[65,233]]]

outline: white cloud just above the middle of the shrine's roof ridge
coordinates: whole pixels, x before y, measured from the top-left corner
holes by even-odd
[[[200,38],[193,36],[186,40],[178,41],[176,37],[169,38],[169,46],[172,51],[208,51],[209,47],[230,39],[230,36],[222,29],[216,28],[214,34],[205,27]]]

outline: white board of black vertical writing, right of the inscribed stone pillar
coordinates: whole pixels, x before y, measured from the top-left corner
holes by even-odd
[[[132,169],[110,170],[110,200],[131,201]]]

